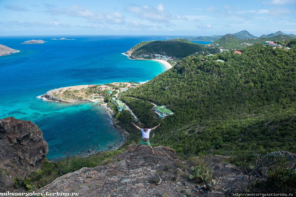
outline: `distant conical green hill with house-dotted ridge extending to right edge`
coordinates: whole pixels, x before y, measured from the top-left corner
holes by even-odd
[[[255,43],[265,42],[265,41],[275,42],[275,41],[291,40],[291,39],[295,39],[295,38],[289,35],[276,35],[271,38],[268,37],[268,38],[239,39],[232,34],[226,34],[222,38],[213,42],[212,44],[217,43],[219,44],[219,47],[223,46],[223,49],[231,50],[231,49],[242,49],[246,47],[247,45],[243,43],[255,44]]]

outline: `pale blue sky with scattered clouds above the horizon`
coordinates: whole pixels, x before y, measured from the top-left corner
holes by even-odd
[[[0,0],[0,35],[296,34],[296,0]]]

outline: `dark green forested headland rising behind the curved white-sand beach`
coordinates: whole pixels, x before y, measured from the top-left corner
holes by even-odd
[[[214,53],[216,50],[208,49],[203,44],[197,44],[183,39],[175,39],[169,41],[152,41],[150,43],[140,45],[139,48],[135,49],[131,53],[131,56],[161,54],[183,58],[201,51],[209,51]]]

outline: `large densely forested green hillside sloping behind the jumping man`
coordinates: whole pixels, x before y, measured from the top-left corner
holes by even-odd
[[[256,44],[241,51],[188,56],[138,88],[120,93],[143,124],[161,123],[152,132],[152,146],[223,155],[251,147],[296,152],[296,48]],[[148,101],[164,104],[175,114],[153,118]],[[125,111],[116,117],[126,126],[133,120]],[[132,125],[129,132],[130,142],[136,143],[141,136],[133,133]]]

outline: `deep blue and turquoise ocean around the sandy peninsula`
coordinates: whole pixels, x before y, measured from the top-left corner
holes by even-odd
[[[52,38],[75,40],[51,40]],[[19,50],[0,56],[0,118],[32,120],[49,145],[48,159],[109,150],[123,141],[111,128],[110,116],[93,103],[62,104],[37,97],[72,85],[146,82],[166,70],[159,62],[131,60],[123,55],[141,41],[164,36],[36,35],[1,36],[0,44]],[[43,44],[22,44],[27,40]],[[196,42],[196,41],[195,41]],[[202,44],[210,42],[200,42]],[[139,134],[140,135],[140,134]]]

